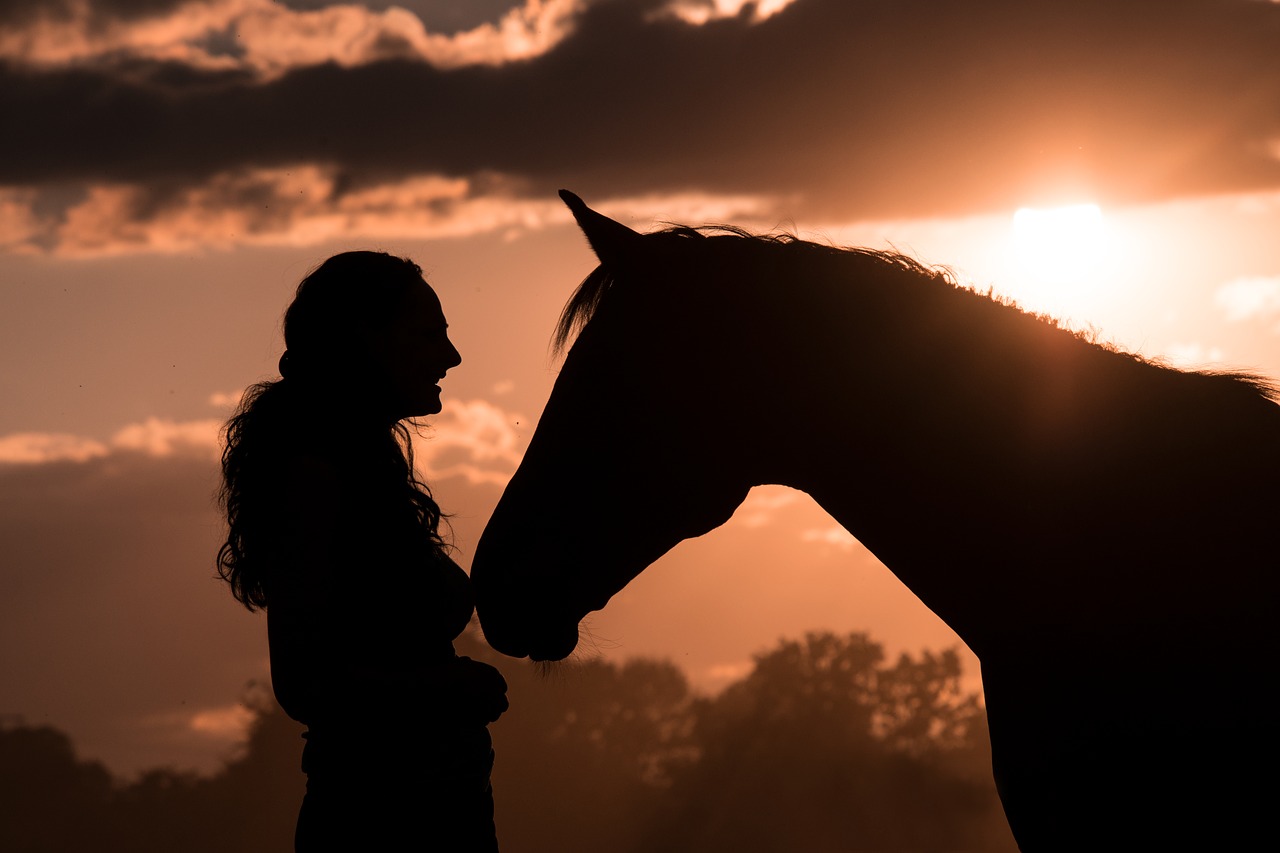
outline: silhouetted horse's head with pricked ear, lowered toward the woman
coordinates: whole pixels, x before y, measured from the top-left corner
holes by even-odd
[[[562,197],[600,266],[562,318],[562,337],[581,332],[471,570],[485,638],[535,660],[567,657],[584,616],[754,484],[733,419],[759,389],[721,334],[731,310],[682,286],[678,240]]]

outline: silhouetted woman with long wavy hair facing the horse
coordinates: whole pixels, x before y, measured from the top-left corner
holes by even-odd
[[[225,426],[218,569],[266,610],[276,699],[307,726],[296,849],[497,850],[507,685],[453,651],[470,581],[404,423],[462,361],[440,301],[413,261],[344,252],[302,280],[284,342]]]

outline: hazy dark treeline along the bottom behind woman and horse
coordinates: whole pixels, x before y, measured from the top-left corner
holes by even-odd
[[[888,662],[864,634],[810,634],[705,698],[667,661],[539,670],[470,634],[458,651],[511,688],[492,726],[504,853],[1016,849],[954,652]],[[54,729],[0,729],[0,850],[292,849],[301,727],[251,699],[212,776],[120,783]]]

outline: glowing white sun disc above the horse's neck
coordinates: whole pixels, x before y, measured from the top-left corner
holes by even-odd
[[[1028,283],[1084,286],[1106,250],[1106,223],[1094,204],[1020,207],[1014,214],[1012,261]]]

